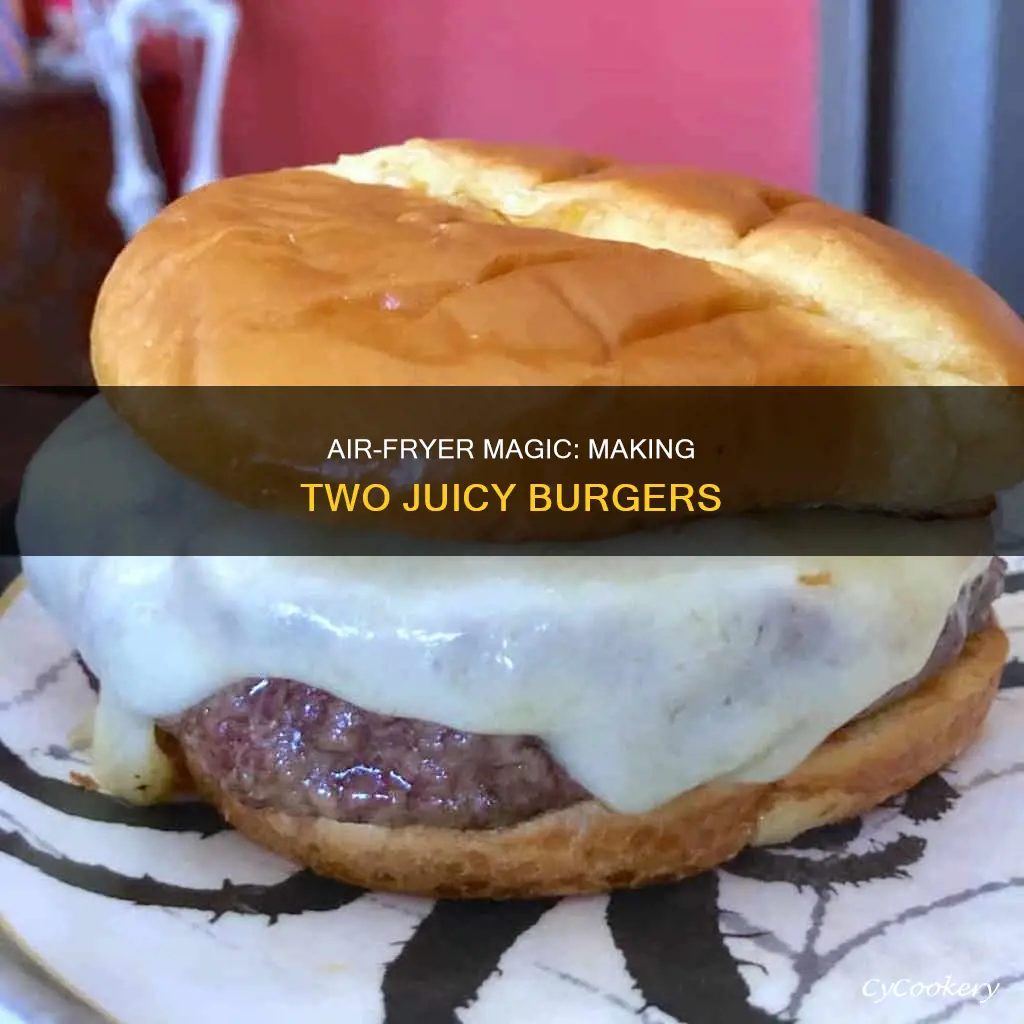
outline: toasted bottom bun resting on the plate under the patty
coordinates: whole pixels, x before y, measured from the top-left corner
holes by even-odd
[[[787,842],[908,790],[977,737],[1008,654],[993,626],[946,671],[835,732],[778,782],[703,785],[647,814],[591,801],[511,828],[387,828],[256,810],[216,779],[194,781],[255,843],[367,889],[513,898],[635,888],[696,874],[744,847]]]

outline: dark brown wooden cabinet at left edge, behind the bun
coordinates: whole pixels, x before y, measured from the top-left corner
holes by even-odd
[[[173,87],[146,82],[147,105]],[[124,244],[106,206],[112,173],[91,84],[0,89],[0,384],[92,383],[92,307]]]

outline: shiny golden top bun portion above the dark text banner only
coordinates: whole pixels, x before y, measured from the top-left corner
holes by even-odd
[[[1024,383],[1016,313],[867,218],[422,139],[179,200],[117,261],[92,342],[100,385]]]

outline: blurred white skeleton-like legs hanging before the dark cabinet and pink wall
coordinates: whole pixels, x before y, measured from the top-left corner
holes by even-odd
[[[91,74],[110,111],[114,181],[109,203],[131,238],[163,206],[166,184],[146,158],[145,112],[136,88],[136,51],[157,29],[205,43],[196,99],[190,191],[220,177],[220,124],[227,69],[239,27],[234,0],[74,0],[75,19]]]

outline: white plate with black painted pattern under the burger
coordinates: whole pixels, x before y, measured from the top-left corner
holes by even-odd
[[[1024,590],[999,609],[1016,657]],[[1022,677],[1011,663],[1008,683]],[[13,595],[0,919],[121,1024],[1024,1020],[1024,689],[1004,691],[949,771],[862,822],[677,886],[506,904],[358,892],[202,806],[137,810],[74,786],[88,765],[69,734],[91,700]]]

